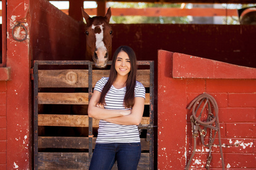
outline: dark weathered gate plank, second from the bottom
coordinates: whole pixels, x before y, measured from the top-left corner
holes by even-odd
[[[38,137],[38,148],[76,148],[88,149],[88,137]],[[96,138],[93,138],[93,148]],[[141,138],[141,149],[149,150],[149,141]]]

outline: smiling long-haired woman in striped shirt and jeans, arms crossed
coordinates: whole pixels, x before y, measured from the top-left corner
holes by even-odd
[[[109,78],[97,83],[88,115],[100,120],[89,169],[137,169],[141,158],[138,125],[144,111],[145,88],[136,81],[133,49],[120,46],[114,53]]]

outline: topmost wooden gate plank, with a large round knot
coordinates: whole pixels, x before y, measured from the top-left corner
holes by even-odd
[[[92,86],[109,70],[93,70]],[[38,70],[38,87],[88,87],[88,70]],[[138,70],[137,80],[150,87],[150,70]]]

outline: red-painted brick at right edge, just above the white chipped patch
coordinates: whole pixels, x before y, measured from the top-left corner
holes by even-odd
[[[226,124],[227,137],[255,138],[255,123]]]

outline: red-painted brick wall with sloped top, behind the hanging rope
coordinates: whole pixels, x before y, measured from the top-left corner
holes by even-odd
[[[256,168],[256,69],[164,50],[158,68],[158,169],[185,168],[193,150],[187,107],[203,93],[218,104],[225,169]],[[197,138],[191,166],[205,167],[207,149]],[[221,169],[216,146],[210,168]]]

